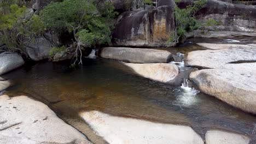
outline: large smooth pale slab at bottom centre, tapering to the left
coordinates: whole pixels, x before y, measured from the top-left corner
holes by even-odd
[[[203,144],[201,137],[187,126],[115,117],[98,111],[80,112],[79,115],[98,135],[112,144]]]

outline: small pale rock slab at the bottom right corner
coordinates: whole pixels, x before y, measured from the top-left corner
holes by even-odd
[[[219,130],[209,130],[205,135],[206,144],[248,144],[247,136]]]

